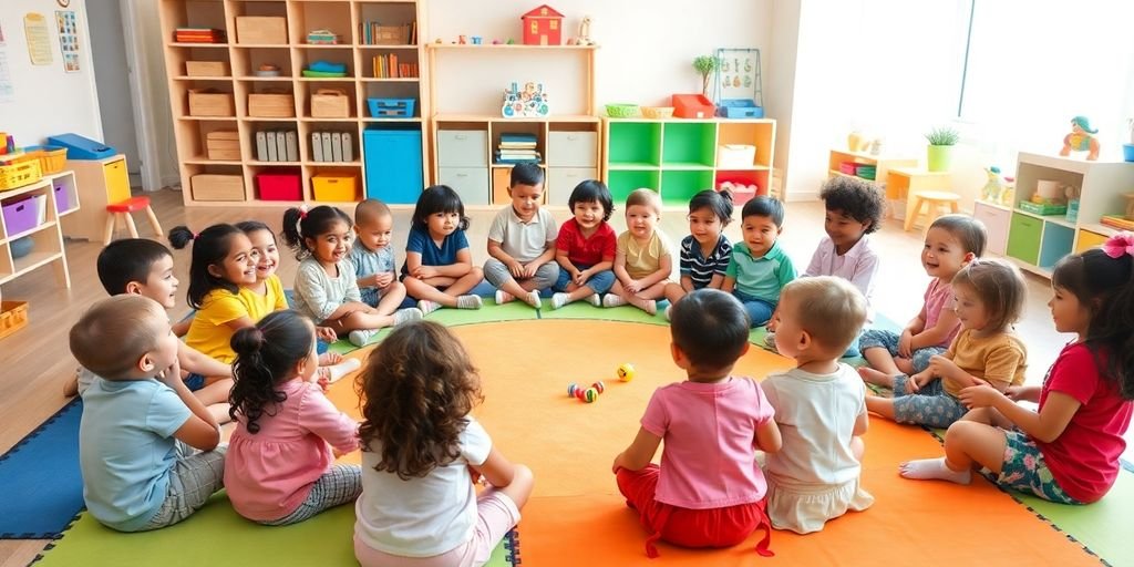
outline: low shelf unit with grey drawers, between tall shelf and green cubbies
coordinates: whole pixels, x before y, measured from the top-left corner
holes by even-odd
[[[576,185],[600,178],[599,125],[600,119],[592,116],[437,115],[432,120],[433,178],[452,187],[465,205],[506,204],[513,164],[496,163],[493,152],[502,134],[531,134],[544,170],[544,202],[567,206]]]

